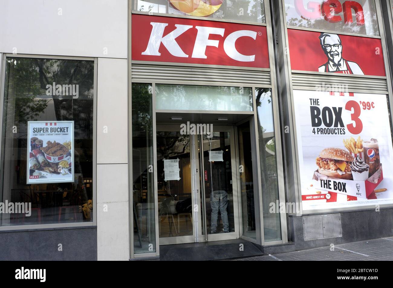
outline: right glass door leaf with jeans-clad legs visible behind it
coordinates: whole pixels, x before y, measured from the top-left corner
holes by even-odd
[[[232,126],[198,135],[202,207],[200,241],[239,238],[237,171]]]

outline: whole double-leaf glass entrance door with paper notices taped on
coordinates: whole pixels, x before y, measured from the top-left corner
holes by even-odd
[[[234,129],[213,131],[157,125],[160,245],[239,238]]]

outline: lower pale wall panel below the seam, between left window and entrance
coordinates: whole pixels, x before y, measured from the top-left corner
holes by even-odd
[[[129,260],[128,211],[128,165],[97,165],[97,260]]]

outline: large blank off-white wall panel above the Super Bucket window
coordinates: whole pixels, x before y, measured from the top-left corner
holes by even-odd
[[[127,58],[127,25],[127,0],[2,0],[0,52]]]

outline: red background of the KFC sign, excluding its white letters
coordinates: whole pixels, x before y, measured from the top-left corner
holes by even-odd
[[[152,26],[150,22],[168,23],[165,27],[163,36],[175,30],[175,24],[192,25],[193,28],[185,31],[182,35],[176,38],[176,42],[182,48],[185,54],[189,57],[176,57],[171,55],[165,46],[161,43],[159,52],[160,56],[142,55],[149,43]],[[219,40],[218,48],[213,46],[206,47],[207,59],[192,58],[196,34],[198,30],[195,26],[224,28],[224,37],[220,35],[211,34],[209,39]],[[226,55],[224,51],[224,40],[228,35],[239,30],[251,30],[257,32],[256,39],[251,37],[240,37],[236,43],[236,50],[243,55],[255,55],[255,61],[242,62],[236,61]],[[149,16],[149,15],[132,15],[131,24],[132,33],[132,60],[135,61],[156,61],[156,62],[175,62],[175,63],[193,63],[193,64],[207,64],[207,65],[224,65],[224,66],[240,66],[240,67],[255,67],[255,68],[269,68],[269,52],[266,35],[266,26],[195,20],[187,18],[172,18],[164,16]]]

